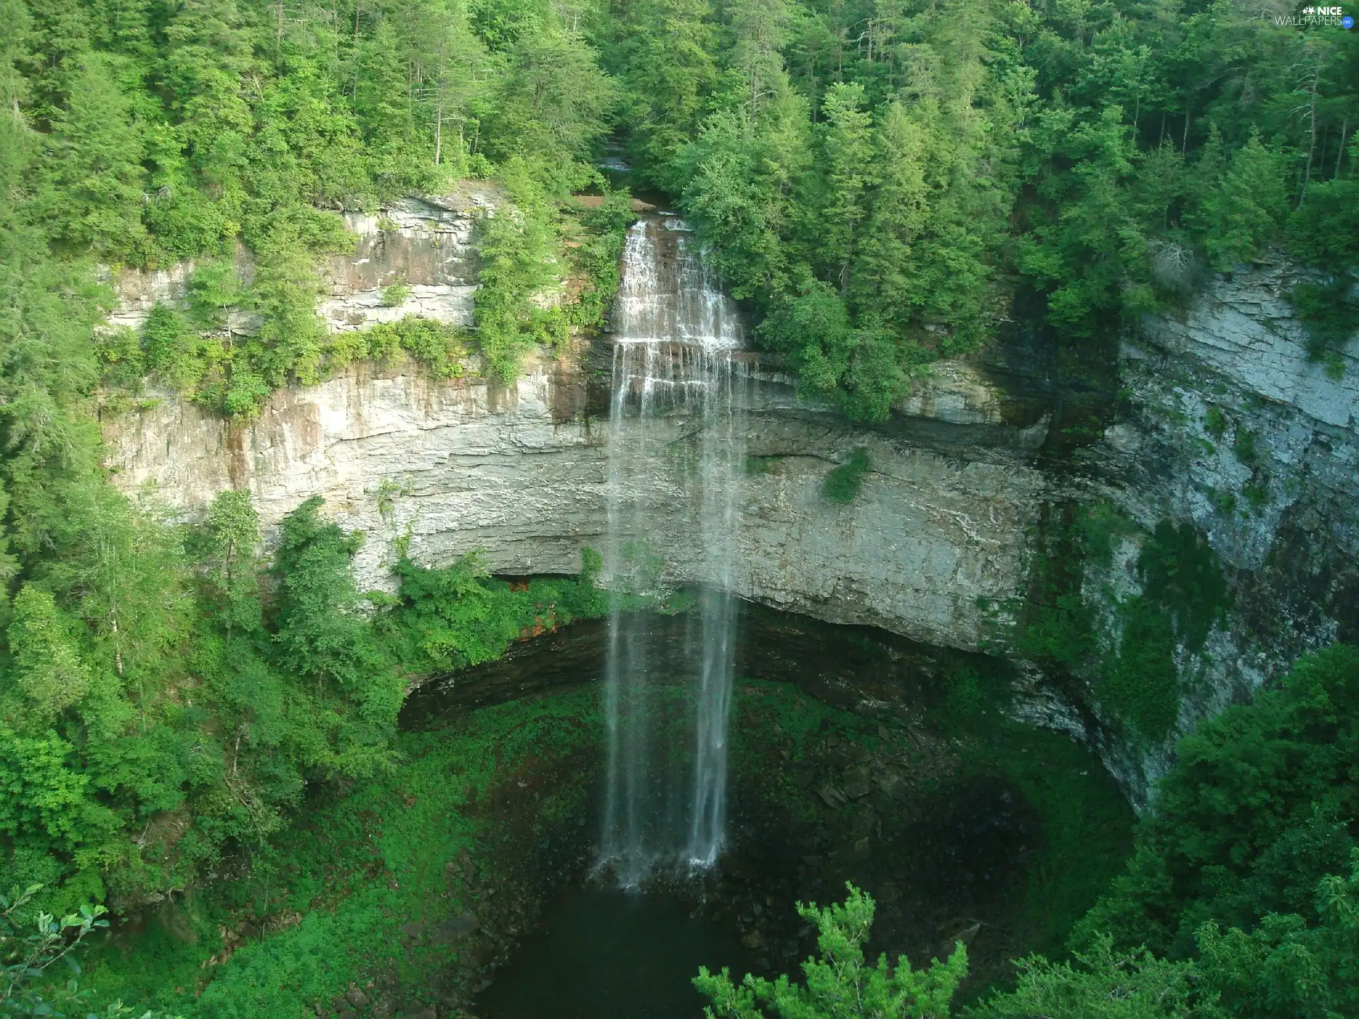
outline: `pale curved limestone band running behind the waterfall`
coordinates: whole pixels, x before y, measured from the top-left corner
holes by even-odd
[[[578,572],[606,529],[607,421],[584,413],[587,372],[540,359],[511,387],[429,379],[413,368],[355,365],[329,382],[276,393],[249,423],[162,394],[105,421],[116,484],[200,516],[216,493],[255,500],[272,538],[319,495],[367,541],[361,587],[390,587],[397,538],[444,565],[480,553],[495,573]],[[1026,454],[978,447],[958,457],[856,429],[752,382],[745,436],[760,469],[743,480],[742,595],[833,622],[874,624],[915,640],[974,649],[993,626],[981,606],[1014,598],[1026,573],[1044,486]],[[669,427],[658,424],[658,427]],[[821,495],[856,446],[874,470],[849,505]],[[681,462],[639,478],[652,496],[646,534],[675,580],[704,580]],[[266,538],[266,542],[268,539]]]

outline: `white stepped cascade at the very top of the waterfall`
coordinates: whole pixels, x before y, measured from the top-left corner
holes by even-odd
[[[745,340],[735,302],[677,216],[643,216],[628,228],[613,332],[620,344],[705,351],[737,349]]]

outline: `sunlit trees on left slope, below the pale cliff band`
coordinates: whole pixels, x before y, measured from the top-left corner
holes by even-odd
[[[95,492],[19,588],[0,673],[0,872],[46,884],[45,908],[133,909],[223,855],[268,856],[308,783],[393,764],[412,673],[603,611],[587,556],[582,580],[522,591],[405,561],[412,590],[374,614],[359,538],[319,500],[283,523],[265,611],[246,493],[177,533]]]

